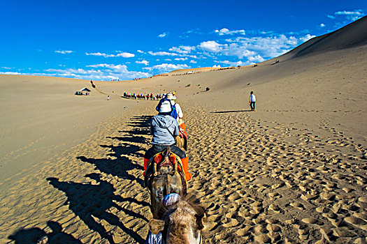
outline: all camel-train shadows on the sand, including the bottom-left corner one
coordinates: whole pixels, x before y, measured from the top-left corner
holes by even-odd
[[[123,180],[131,181],[131,183],[141,184],[143,186],[143,180],[136,178],[135,176],[128,173],[131,169],[139,169],[143,171],[143,166],[139,162],[133,162],[129,159],[129,156],[134,155],[138,158],[143,158],[143,153],[140,153],[141,146],[136,144],[147,143],[143,135],[148,135],[150,130],[147,129],[150,126],[150,120],[152,116],[135,116],[131,119],[128,126],[131,130],[119,131],[124,132],[127,136],[124,137],[107,137],[110,139],[118,139],[122,144],[120,146],[111,145],[100,145],[103,148],[110,148],[112,153],[107,155],[113,157],[113,159],[98,159],[98,158],[86,158],[85,156],[77,157],[82,162],[88,162],[95,166],[99,171],[117,176]],[[47,178],[50,185],[54,188],[65,192],[66,202],[65,205],[69,205],[69,209],[77,215],[82,222],[84,222],[89,229],[96,231],[101,238],[106,238],[109,243],[115,243],[113,241],[113,235],[110,234],[105,227],[101,224],[101,220],[108,222],[108,224],[119,227],[126,234],[134,239],[135,243],[144,243],[144,239],[132,230],[131,227],[126,227],[122,223],[119,217],[113,213],[110,213],[110,208],[116,208],[118,211],[124,212],[134,218],[139,218],[147,222],[140,213],[136,213],[122,205],[124,202],[135,203],[141,206],[150,206],[146,201],[139,201],[134,197],[121,197],[115,195],[115,188],[108,181],[103,181],[100,174],[92,173],[87,174],[85,177],[94,179],[97,184],[92,183],[78,183],[72,181],[59,181],[58,178],[50,177]],[[122,204],[117,204],[122,203]],[[124,204],[124,206],[129,206]],[[39,243],[40,241],[48,238],[48,243],[78,243],[81,242],[74,238],[71,234],[67,234],[62,231],[61,224],[48,221],[49,229],[52,232],[46,233],[44,229],[38,227],[29,229],[19,229],[14,234],[8,236],[8,238],[15,243]]]

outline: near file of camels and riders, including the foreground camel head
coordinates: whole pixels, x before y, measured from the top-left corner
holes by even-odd
[[[155,155],[152,157],[148,153],[150,149],[145,153],[144,184],[150,192],[151,211],[154,218],[150,221],[146,243],[199,244],[206,214],[203,206],[199,204],[199,199],[193,196],[187,197],[187,181],[192,176],[188,172],[188,161],[183,151],[187,151],[187,134],[185,123],[182,121],[183,113],[180,105],[175,102],[174,93],[168,93],[161,98],[156,109],[159,115],[154,116],[150,123],[150,132],[153,134],[153,149],[150,149],[154,150],[154,146],[157,146],[154,144],[159,142],[157,137],[172,137],[171,142],[175,140],[175,145],[157,146],[159,149],[154,151]],[[175,109],[178,109],[178,112],[174,112]],[[172,127],[168,125],[163,129],[167,130],[168,134],[161,134],[162,123],[156,125],[154,123],[157,121],[156,118],[163,122],[164,126],[167,121],[174,121]],[[177,123],[176,119],[180,123]],[[180,129],[177,130],[178,128]],[[183,136],[186,143],[182,144]]]

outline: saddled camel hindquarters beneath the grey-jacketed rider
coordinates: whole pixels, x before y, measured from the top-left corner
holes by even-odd
[[[180,158],[171,154],[171,148],[166,148],[147,167],[145,185],[150,190],[153,218],[159,219],[163,215],[160,211],[164,196],[170,193],[177,193],[181,197],[186,195],[187,183],[179,160]]]

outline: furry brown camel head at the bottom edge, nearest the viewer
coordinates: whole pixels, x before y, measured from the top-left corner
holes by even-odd
[[[161,233],[162,243],[201,243],[206,213],[199,200],[180,199],[165,209],[162,220],[150,220],[149,227],[153,234]]]

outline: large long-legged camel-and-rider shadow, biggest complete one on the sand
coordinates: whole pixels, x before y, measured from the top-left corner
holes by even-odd
[[[123,211],[127,215],[134,216],[135,218],[141,218],[145,221],[147,219],[134,211],[130,211],[126,208],[122,208],[116,204],[115,201],[125,201],[126,199],[115,195],[115,188],[107,181],[103,181],[99,174],[88,174],[87,177],[96,180],[99,185],[91,185],[90,183],[75,183],[59,181],[57,178],[47,178],[50,184],[55,188],[62,190],[66,193],[67,200],[65,204],[69,204],[69,209],[78,215],[80,220],[85,222],[89,229],[99,233],[101,238],[106,238],[110,243],[114,243],[113,237],[110,236],[102,224],[94,220],[106,220],[109,224],[120,227],[122,231],[129,234],[137,243],[143,243],[144,240],[136,232],[130,228],[124,226],[120,219],[109,213],[108,210],[111,207],[117,208],[119,211]]]

